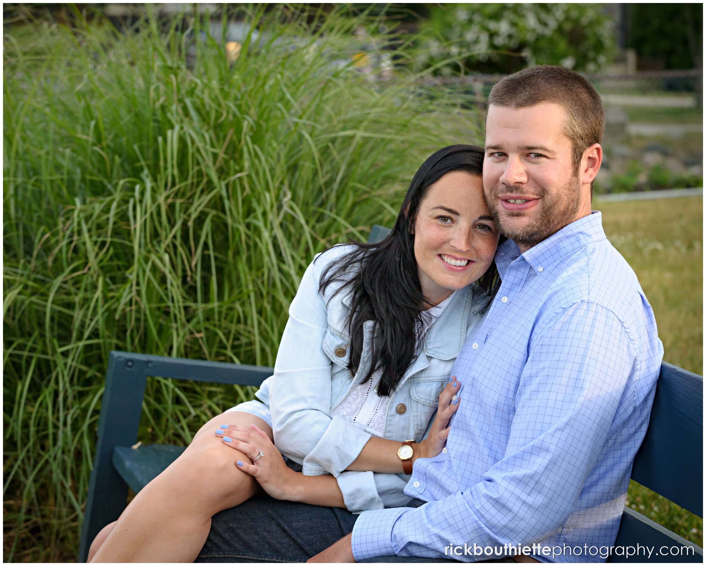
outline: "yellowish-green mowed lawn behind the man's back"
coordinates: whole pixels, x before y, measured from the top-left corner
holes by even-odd
[[[664,361],[703,375],[701,197],[594,201],[606,236],[638,275],[657,319]],[[703,520],[631,482],[628,505],[703,546]]]

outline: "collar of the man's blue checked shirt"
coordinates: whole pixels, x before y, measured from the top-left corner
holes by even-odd
[[[502,243],[501,246],[498,246],[495,263],[498,266],[501,279],[510,263],[520,258],[520,255],[533,270],[543,271],[568,255],[585,248],[589,243],[604,239],[606,239],[606,234],[603,231],[601,213],[592,210],[590,215],[567,224],[549,238],[539,242],[537,246],[532,246],[525,253],[520,254],[520,248],[511,240]]]

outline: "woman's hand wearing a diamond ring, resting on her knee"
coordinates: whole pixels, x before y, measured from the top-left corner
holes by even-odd
[[[255,478],[263,489],[275,499],[290,499],[292,494],[287,488],[294,485],[296,476],[294,470],[287,467],[282,454],[273,445],[267,433],[256,425],[237,426],[216,430],[217,436],[222,436],[223,444],[227,447],[240,450],[252,462],[241,462],[236,465],[246,474]],[[263,456],[258,458],[262,451]]]

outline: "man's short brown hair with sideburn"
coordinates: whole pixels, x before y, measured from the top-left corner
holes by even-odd
[[[497,83],[488,97],[488,106],[525,108],[554,102],[566,109],[564,133],[571,140],[571,156],[576,172],[583,152],[601,143],[606,124],[603,102],[593,85],[568,68],[540,65],[522,69]]]

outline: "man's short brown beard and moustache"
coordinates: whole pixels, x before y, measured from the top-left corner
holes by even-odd
[[[540,206],[542,208],[539,212],[539,216],[527,222],[527,224],[520,229],[512,227],[508,219],[512,217],[523,217],[527,213],[500,210],[496,205],[497,200],[495,198],[496,195],[500,194],[532,195],[541,198],[542,204]],[[528,249],[546,240],[551,234],[561,230],[576,219],[581,205],[581,186],[578,176],[574,174],[566,185],[554,193],[553,197],[549,196],[545,188],[540,188],[539,191],[526,191],[524,186],[518,187],[503,184],[491,189],[489,196],[490,198],[488,198],[487,202],[488,209],[491,215],[493,215],[496,224],[500,227],[501,234],[515,241],[517,246]]]

